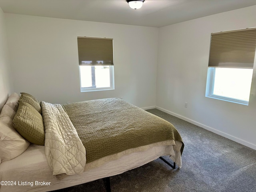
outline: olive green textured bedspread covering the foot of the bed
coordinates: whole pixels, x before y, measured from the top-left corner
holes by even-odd
[[[86,148],[86,163],[160,141],[182,142],[170,122],[118,98],[64,104],[62,107]]]

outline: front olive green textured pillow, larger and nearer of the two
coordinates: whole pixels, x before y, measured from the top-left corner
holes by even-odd
[[[44,145],[43,118],[33,106],[20,101],[12,123],[26,140],[36,145]]]

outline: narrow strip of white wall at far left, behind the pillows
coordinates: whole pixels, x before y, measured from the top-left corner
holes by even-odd
[[[12,92],[4,12],[0,8],[0,112]]]

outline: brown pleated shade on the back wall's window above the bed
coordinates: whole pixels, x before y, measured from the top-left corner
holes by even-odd
[[[77,37],[79,65],[114,65],[113,39]]]

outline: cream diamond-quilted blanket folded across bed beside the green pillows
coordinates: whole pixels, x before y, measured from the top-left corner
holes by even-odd
[[[86,150],[68,114],[60,104],[41,102],[45,127],[45,154],[53,175],[82,174]]]

